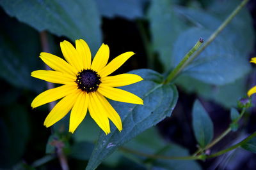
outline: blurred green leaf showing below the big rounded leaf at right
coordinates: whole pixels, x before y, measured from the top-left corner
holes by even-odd
[[[240,78],[234,81],[234,83],[228,83],[226,85],[210,85],[189,76],[179,76],[175,83],[189,94],[196,93],[226,108],[236,106],[237,101],[248,90],[246,87],[246,78]]]

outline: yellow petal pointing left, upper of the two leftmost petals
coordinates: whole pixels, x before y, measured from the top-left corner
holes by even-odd
[[[70,74],[61,73],[51,70],[36,70],[31,73],[31,76],[51,83],[74,85],[76,77]]]

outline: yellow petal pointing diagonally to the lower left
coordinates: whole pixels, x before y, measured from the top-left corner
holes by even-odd
[[[74,103],[77,99],[77,96],[81,93],[81,90],[77,90],[76,92],[69,94],[68,96],[64,97],[59,101],[54,108],[52,108],[49,115],[45,118],[44,125],[46,127],[50,127],[51,125],[55,124],[61,118],[67,115],[68,111],[74,106]]]

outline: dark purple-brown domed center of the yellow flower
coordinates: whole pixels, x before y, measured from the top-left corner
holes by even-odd
[[[100,76],[96,71],[92,69],[83,69],[81,72],[77,73],[76,83],[78,89],[84,92],[96,92],[101,83]]]

